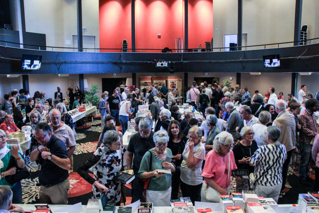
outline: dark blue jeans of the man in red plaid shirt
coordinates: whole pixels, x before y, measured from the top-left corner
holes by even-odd
[[[312,149],[312,145],[310,143],[303,143],[302,141],[299,143],[301,157],[299,162],[299,179],[305,180],[309,174],[309,156]]]

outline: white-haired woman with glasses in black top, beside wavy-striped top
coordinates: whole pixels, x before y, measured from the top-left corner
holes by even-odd
[[[254,134],[250,126],[242,127],[240,131],[242,140],[233,148],[237,168],[248,170],[249,174],[254,173],[255,169],[254,166],[249,165],[250,157],[254,155],[258,148],[256,141],[254,141]],[[241,192],[242,190],[249,190],[248,179],[236,180],[236,192]]]

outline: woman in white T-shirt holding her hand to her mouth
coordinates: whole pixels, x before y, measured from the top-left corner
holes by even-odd
[[[181,164],[181,190],[183,197],[190,197],[193,205],[198,201],[202,188],[202,164],[205,160],[205,147],[200,141],[203,133],[200,127],[193,126],[188,131],[188,141],[183,151]]]

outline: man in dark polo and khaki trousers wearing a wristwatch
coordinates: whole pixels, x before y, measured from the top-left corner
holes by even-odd
[[[31,152],[30,160],[39,161],[40,202],[68,204],[70,159],[65,145],[45,123],[34,128],[34,136],[40,145]]]

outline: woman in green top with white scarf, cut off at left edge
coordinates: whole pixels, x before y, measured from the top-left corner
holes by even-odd
[[[18,151],[18,147],[7,145],[7,135],[3,130],[0,130],[0,185],[10,186],[13,193],[12,203],[22,203],[21,182],[9,184],[5,179],[5,176],[14,175],[17,171],[16,167],[8,168],[10,159],[14,159],[19,168],[25,167],[25,162]]]

